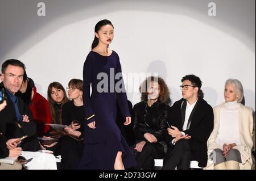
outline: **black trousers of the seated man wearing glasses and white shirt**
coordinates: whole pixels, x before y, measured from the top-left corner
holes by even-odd
[[[189,170],[191,158],[188,140],[181,139],[172,148],[168,148],[162,170],[175,170],[176,166],[178,170]]]

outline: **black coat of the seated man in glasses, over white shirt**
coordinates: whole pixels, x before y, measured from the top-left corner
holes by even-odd
[[[182,131],[185,116],[185,107],[181,106],[181,104],[186,102],[187,100],[185,99],[180,99],[175,102],[171,107],[170,117],[168,119],[168,123],[174,125],[180,131]],[[189,117],[189,121],[191,121],[190,127],[183,132],[191,136],[188,142],[200,167],[207,165],[207,140],[213,130],[213,120],[212,107],[204,99],[199,97]],[[172,139],[173,138],[167,133],[167,142],[171,142]]]

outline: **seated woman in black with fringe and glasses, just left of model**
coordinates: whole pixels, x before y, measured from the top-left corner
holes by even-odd
[[[61,168],[77,169],[84,150],[84,127],[86,117],[82,101],[82,80],[71,79],[68,83],[68,97],[71,99],[63,105],[62,124],[68,125],[64,130],[69,135],[61,140]]]

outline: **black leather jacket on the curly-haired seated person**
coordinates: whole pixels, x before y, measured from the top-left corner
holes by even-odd
[[[168,119],[168,112],[170,106],[165,103],[155,102],[151,106],[152,113],[151,117],[147,119],[152,119],[150,123],[145,123],[144,116],[146,115],[147,102],[139,102],[134,105],[134,116],[133,116],[133,131],[135,138],[138,141],[146,141],[144,138],[144,133],[151,133],[158,139],[158,142],[165,141],[164,135],[167,129],[166,121]],[[146,120],[147,120],[146,119]]]

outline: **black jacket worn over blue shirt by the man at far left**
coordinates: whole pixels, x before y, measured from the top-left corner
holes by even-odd
[[[3,88],[2,82],[0,83],[0,88]],[[33,121],[33,116],[30,108],[26,104],[24,104],[21,98],[18,97],[19,113],[22,115],[27,115],[30,122],[26,123],[16,120],[14,104],[11,101],[9,95],[5,95],[7,106],[0,112],[0,132],[8,139],[18,138],[27,135],[28,137],[22,141],[22,150],[38,151],[40,149],[40,146],[36,137],[36,124]],[[18,124],[16,123],[18,123],[21,128],[19,128]]]

